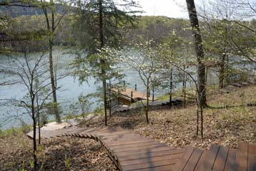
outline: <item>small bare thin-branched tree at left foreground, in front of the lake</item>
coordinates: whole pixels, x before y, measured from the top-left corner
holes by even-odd
[[[11,99],[19,108],[26,110],[23,114],[29,114],[33,120],[33,156],[34,156],[34,170],[37,170],[37,145],[36,145],[36,125],[39,123],[40,111],[44,109],[46,100],[51,95],[51,91],[44,91],[51,83],[46,75],[45,69],[47,62],[44,61],[44,53],[33,57],[29,56],[27,52],[24,52],[24,58],[13,58],[9,65],[1,65],[0,74],[14,78],[16,83],[24,86],[28,92],[26,97],[20,99]],[[40,130],[40,127],[39,127]],[[40,131],[39,131],[40,133]],[[39,135],[40,136],[40,135]]]

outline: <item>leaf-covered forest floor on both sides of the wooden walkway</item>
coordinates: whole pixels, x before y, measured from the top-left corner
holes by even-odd
[[[212,93],[204,113],[204,138],[196,136],[196,105],[149,112],[150,123],[144,114],[114,115],[109,125],[121,126],[140,135],[183,148],[207,149],[212,144],[237,147],[237,142],[256,143],[256,86],[237,88],[231,93]],[[253,105],[254,104],[254,105]],[[90,120],[86,125],[102,127],[104,117]],[[22,133],[0,138],[0,170],[29,170],[32,141]],[[44,170],[117,170],[107,153],[94,140],[53,138],[43,140],[39,161]]]

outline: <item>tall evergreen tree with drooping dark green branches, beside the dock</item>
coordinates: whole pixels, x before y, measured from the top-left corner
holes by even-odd
[[[109,63],[104,58],[95,58],[97,57],[95,54],[99,53],[104,46],[117,46],[120,37],[119,28],[128,22],[133,23],[132,14],[137,11],[129,8],[137,7],[137,4],[133,0],[73,1],[73,4],[80,9],[77,28],[81,29],[82,35],[79,35],[79,40],[82,41],[81,46],[86,51],[84,60],[79,58],[74,63],[81,66],[85,62],[92,68],[99,69],[97,78],[102,81],[104,123],[107,125],[107,71],[105,68],[109,68]]]

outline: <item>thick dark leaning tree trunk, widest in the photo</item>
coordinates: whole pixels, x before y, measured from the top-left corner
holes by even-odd
[[[200,104],[207,105],[206,101],[206,79],[205,79],[205,63],[203,59],[205,58],[204,51],[202,49],[202,37],[200,33],[200,26],[197,19],[197,11],[195,9],[194,0],[186,0],[187,11],[189,13],[189,20],[192,27],[192,33],[195,36],[195,53],[197,54],[197,76],[198,76],[198,88],[200,91]]]

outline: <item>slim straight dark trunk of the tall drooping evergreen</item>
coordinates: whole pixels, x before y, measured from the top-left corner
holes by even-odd
[[[102,0],[99,0],[99,41],[100,41],[100,48],[104,47],[104,35],[103,35],[103,7],[102,7]],[[107,83],[106,83],[106,71],[104,70],[104,63],[106,61],[100,60],[102,64],[102,87],[103,87],[103,98],[104,98],[104,114],[105,114],[105,125],[107,126]]]

